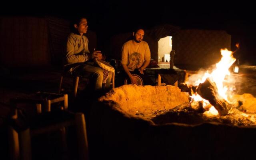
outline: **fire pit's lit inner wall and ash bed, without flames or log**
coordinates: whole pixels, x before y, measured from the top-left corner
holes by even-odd
[[[239,127],[256,126],[256,98],[250,94],[235,95],[234,99],[242,102],[236,108],[231,108],[225,116],[212,115],[190,104],[187,92],[181,92],[175,86],[136,86],[124,85],[115,88],[99,101],[109,103],[128,118],[140,118],[153,125],[182,123],[198,125],[202,123],[226,124]],[[249,102],[250,103],[249,103]],[[236,105],[234,105],[236,106]]]

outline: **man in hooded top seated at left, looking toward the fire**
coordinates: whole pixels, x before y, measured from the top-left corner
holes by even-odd
[[[86,18],[78,18],[72,22],[72,33],[69,34],[66,43],[66,68],[71,74],[90,78],[90,84],[94,91],[102,91],[103,71],[92,58],[102,59],[101,51],[88,50],[88,38],[84,34],[88,30]],[[110,89],[111,76],[106,80],[105,90]]]

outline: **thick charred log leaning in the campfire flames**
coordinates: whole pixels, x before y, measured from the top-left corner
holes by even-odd
[[[204,83],[199,84],[196,92],[204,99],[208,100],[212,106],[222,115],[228,114],[231,104],[218,94],[216,84],[207,78]]]

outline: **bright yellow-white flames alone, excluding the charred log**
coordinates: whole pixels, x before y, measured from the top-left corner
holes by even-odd
[[[214,70],[211,73],[207,71],[206,73],[204,73],[202,78],[198,79],[196,82],[190,85],[198,86],[200,83],[204,83],[206,78],[210,78],[212,82],[216,83],[218,94],[222,98],[224,98],[226,101],[228,101],[227,91],[229,90],[229,88],[228,86],[223,86],[223,82],[226,76],[230,75],[230,72],[228,69],[230,68],[230,66],[232,66],[232,64],[236,61],[236,59],[233,57],[232,51],[229,51],[228,49],[224,49],[224,50],[221,49],[220,51],[221,51],[222,58],[220,62],[216,64],[216,68],[214,68]],[[196,93],[192,92],[191,98],[192,98],[192,101],[193,100],[202,101],[204,108],[206,108],[206,106],[209,105],[208,100],[205,100],[204,98],[202,98]],[[208,116],[218,115],[218,111],[212,106],[207,112],[205,112],[205,114]]]

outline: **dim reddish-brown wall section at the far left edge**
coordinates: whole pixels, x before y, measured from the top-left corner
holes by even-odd
[[[50,63],[44,18],[0,17],[0,63],[8,67]]]

